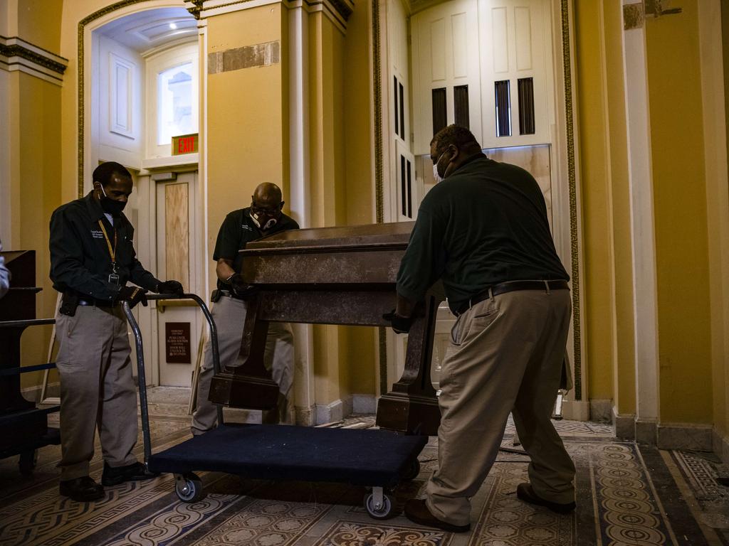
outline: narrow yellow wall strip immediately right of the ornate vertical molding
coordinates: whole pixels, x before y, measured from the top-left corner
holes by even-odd
[[[611,399],[615,363],[612,196],[601,2],[577,2],[574,13],[577,106],[585,256],[585,365],[590,399]]]

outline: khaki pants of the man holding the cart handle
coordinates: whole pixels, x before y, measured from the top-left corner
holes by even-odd
[[[120,307],[79,306],[73,317],[56,315],[61,376],[61,480],[89,474],[98,427],[104,461],[136,462],[136,389],[127,321]]]

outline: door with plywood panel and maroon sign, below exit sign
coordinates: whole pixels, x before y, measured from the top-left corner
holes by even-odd
[[[197,179],[197,173],[181,173],[172,180],[157,181],[155,189],[157,276],[160,280],[179,280],[185,292],[197,285],[193,259]],[[159,300],[156,309],[159,384],[190,387],[205,320],[191,300]]]

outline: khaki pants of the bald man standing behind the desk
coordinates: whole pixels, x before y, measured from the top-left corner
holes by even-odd
[[[220,368],[233,367],[241,352],[246,302],[222,296],[211,307],[218,335]],[[266,369],[278,384],[278,412],[265,416],[268,422],[288,422],[289,391],[294,381],[294,335],[289,323],[268,323],[268,337],[263,356]],[[214,428],[218,416],[216,406],[208,400],[214,376],[213,351],[210,340],[205,344],[205,357],[198,377],[198,401],[192,414],[192,434],[202,434]],[[271,411],[273,412],[273,410]]]

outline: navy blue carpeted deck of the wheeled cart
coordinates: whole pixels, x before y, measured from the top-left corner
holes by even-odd
[[[427,441],[388,430],[225,424],[152,454],[149,470],[395,486]]]

